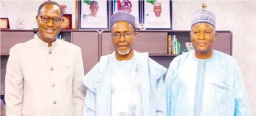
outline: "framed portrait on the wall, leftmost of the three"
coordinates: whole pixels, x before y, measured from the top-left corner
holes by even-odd
[[[79,30],[103,30],[108,29],[108,1],[82,0],[79,1]]]

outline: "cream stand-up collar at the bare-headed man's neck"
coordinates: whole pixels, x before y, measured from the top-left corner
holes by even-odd
[[[38,34],[39,34],[39,32],[37,32],[37,33],[34,35],[34,38],[35,38],[35,40],[36,40],[36,43],[38,43],[41,48],[47,49],[47,50],[52,50],[52,49],[54,49],[54,48],[56,47],[56,45],[57,45],[57,43],[58,43],[58,38],[57,38],[56,41],[54,41],[54,42],[52,43],[52,47],[48,47],[48,43],[42,41],[42,40],[39,38]]]

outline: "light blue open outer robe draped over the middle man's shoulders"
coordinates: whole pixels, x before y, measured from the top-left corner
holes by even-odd
[[[167,69],[150,59],[148,53],[134,51],[133,60],[140,79],[140,116],[166,115],[166,88],[163,78]],[[115,52],[103,56],[99,63],[85,75],[83,79],[83,86],[86,88],[84,116],[111,116],[111,82],[112,72],[115,69],[113,64],[116,62],[118,60],[115,58]],[[122,64],[118,64],[121,68],[123,67]],[[131,66],[128,65],[128,67]]]

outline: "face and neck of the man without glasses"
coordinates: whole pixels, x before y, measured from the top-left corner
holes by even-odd
[[[196,58],[209,59],[213,56],[213,45],[217,38],[214,26],[207,23],[195,24],[191,28],[190,37]]]

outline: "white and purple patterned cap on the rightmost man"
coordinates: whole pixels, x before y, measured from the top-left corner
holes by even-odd
[[[206,4],[202,4],[202,7],[203,7],[203,9],[199,9],[199,10],[195,11],[194,13],[192,13],[191,27],[200,22],[206,22],[210,25],[213,25],[215,28],[215,23],[216,23],[215,14],[204,9],[206,7]]]

